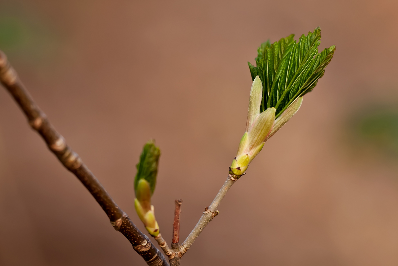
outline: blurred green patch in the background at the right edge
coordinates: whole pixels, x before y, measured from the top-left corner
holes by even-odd
[[[398,156],[398,104],[363,108],[351,118],[349,128],[356,146]]]

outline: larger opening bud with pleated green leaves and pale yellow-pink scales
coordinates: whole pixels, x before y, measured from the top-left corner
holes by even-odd
[[[256,66],[248,62],[253,79],[246,130],[240,140],[230,174],[239,178],[272,137],[301,106],[303,95],[312,91],[325,73],[336,46],[318,54],[321,30],[304,34],[298,42],[291,34],[257,49]],[[276,119],[276,120],[275,120]]]

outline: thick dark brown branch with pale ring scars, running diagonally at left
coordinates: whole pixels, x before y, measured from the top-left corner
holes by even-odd
[[[123,210],[117,206],[111,196],[105,191],[97,178],[82,162],[82,159],[65,142],[43,111],[39,109],[32,97],[26,91],[14,68],[10,65],[6,55],[0,51],[0,82],[14,97],[25,113],[29,125],[36,130],[47,143],[49,149],[60,162],[83,183],[94,199],[107,214],[112,226],[121,232],[133,245],[146,263],[150,266],[168,266],[163,254],[152,244]]]

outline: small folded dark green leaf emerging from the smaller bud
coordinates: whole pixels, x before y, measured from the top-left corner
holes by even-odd
[[[154,140],[148,141],[142,148],[140,161],[136,165],[137,174],[134,179],[134,191],[137,197],[140,179],[145,179],[150,187],[150,195],[153,194],[156,186],[156,175],[158,174],[158,165],[160,157],[160,148],[155,145]]]

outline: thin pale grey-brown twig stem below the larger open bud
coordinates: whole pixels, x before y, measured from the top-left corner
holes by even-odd
[[[229,173],[224,185],[222,185],[219,193],[217,193],[214,200],[211,202],[209,207],[205,208],[199,222],[192,229],[191,233],[188,235],[187,239],[179,246],[179,251],[181,252],[181,256],[185,254],[188,249],[191,247],[195,239],[202,233],[203,229],[213,220],[213,218],[219,214],[217,207],[220,205],[221,200],[224,198],[225,194],[231,188],[231,186],[238,180],[240,176],[236,176],[234,174]]]

